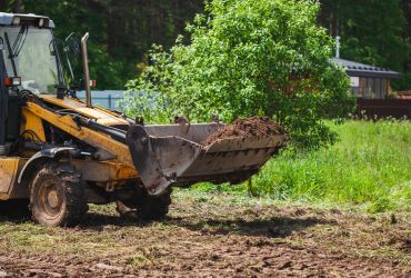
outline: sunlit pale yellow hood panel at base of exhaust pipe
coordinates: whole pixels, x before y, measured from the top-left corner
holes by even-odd
[[[128,121],[122,119],[116,113],[112,113],[108,110],[102,108],[90,108],[87,107],[84,102],[72,99],[72,98],[64,98],[58,99],[53,95],[41,95],[40,96],[44,101],[57,105],[59,107],[74,110],[79,113],[82,113],[89,118],[93,118],[97,122],[104,125],[104,126],[112,126],[112,125],[128,125]]]

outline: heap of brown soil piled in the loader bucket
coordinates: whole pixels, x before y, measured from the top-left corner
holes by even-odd
[[[283,127],[272,121],[268,117],[251,117],[248,119],[237,119],[234,123],[227,125],[209,136],[201,146],[207,147],[219,139],[232,137],[270,137],[285,135]]]

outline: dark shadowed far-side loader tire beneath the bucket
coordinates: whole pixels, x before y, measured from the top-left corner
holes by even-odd
[[[140,192],[133,201],[117,200],[117,211],[126,218],[138,218],[139,220],[151,221],[161,220],[169,212],[171,205],[171,188],[160,196],[151,196],[146,189]]]

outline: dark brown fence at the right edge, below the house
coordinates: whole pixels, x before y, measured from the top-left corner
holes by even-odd
[[[410,99],[358,99],[357,115],[368,117],[397,119],[411,119],[411,100]]]

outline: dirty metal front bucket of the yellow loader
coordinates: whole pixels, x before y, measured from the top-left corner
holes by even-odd
[[[171,185],[187,187],[201,181],[242,182],[288,140],[287,135],[230,137],[201,145],[222,126],[131,126],[127,142],[148,191],[160,195]]]

